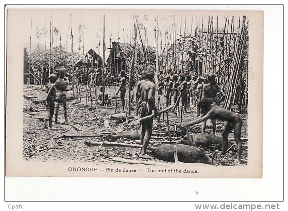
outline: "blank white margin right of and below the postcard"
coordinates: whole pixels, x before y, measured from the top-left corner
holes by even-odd
[[[52,4],[50,2],[50,4]],[[145,2],[147,3],[147,2]],[[211,2],[212,3],[212,2]],[[245,3],[245,2],[242,2]],[[251,3],[251,1],[247,1]],[[273,1],[281,4],[281,2]],[[20,3],[21,4],[21,3]],[[36,4],[36,3],[35,3]],[[191,4],[191,3],[190,3]],[[66,7],[66,6],[65,6]],[[78,6],[76,6],[78,7]],[[85,6],[84,6],[85,7]],[[127,6],[119,6],[120,8]],[[153,7],[169,9],[168,6]],[[104,6],[104,8],[109,8]],[[114,7],[115,8],[115,7]],[[136,9],[136,6],[129,7]],[[139,9],[151,9],[145,6]],[[118,7],[117,7],[118,9]],[[173,179],[173,178],[24,178],[6,177],[8,200],[281,200],[282,199],[282,8],[276,6],[173,6],[172,9],[264,10],[264,119],[263,119],[263,178],[261,179]],[[286,46],[285,46],[286,47]],[[2,51],[3,52],[3,51]],[[5,58],[4,55],[2,58]],[[2,92],[3,93],[3,92]],[[261,124],[261,123],[259,123]],[[2,127],[3,129],[3,127]],[[4,134],[4,133],[3,133]],[[4,146],[2,147],[4,155]],[[4,156],[3,156],[4,157]],[[3,162],[2,169],[4,170]],[[3,174],[4,175],[4,172]],[[196,193],[198,192],[198,194]],[[244,197],[245,196],[245,197]],[[8,204],[5,202],[6,208]],[[252,202],[251,202],[252,203]],[[17,204],[14,202],[14,204]],[[36,203],[29,210],[39,210]],[[33,204],[33,205],[32,205]],[[49,208],[59,203],[47,202]],[[58,205],[57,205],[58,204]],[[65,210],[76,210],[75,203],[64,203]],[[78,208],[85,209],[81,204]],[[88,203],[89,204],[89,203]],[[88,205],[85,203],[85,205]],[[125,203],[126,204],[126,203]],[[174,206],[161,203],[161,209]],[[95,204],[90,204],[97,208]],[[110,203],[110,205],[115,205]],[[124,204],[123,204],[124,205]],[[125,208],[115,206],[114,208]],[[43,203],[41,207],[43,206]],[[126,204],[125,209],[153,208],[153,203]],[[27,206],[26,206],[27,207]],[[47,207],[47,206],[46,206]],[[90,208],[91,208],[90,207]],[[179,208],[195,209],[187,204]],[[34,209],[35,208],[35,209]],[[37,209],[38,208],[38,209]],[[44,208],[44,207],[42,207]],[[58,207],[59,208],[59,207]],[[97,209],[99,209],[98,207]],[[104,208],[104,207],[103,207]],[[108,208],[108,207],[107,207]],[[156,208],[156,207],[154,207]],[[153,208],[153,209],[154,209]],[[174,207],[176,208],[176,207]],[[281,207],[283,208],[283,207]]]

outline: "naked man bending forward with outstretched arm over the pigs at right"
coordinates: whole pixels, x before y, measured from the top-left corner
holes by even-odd
[[[203,117],[201,117],[198,120],[195,120],[193,122],[189,122],[184,124],[185,126],[195,125],[198,123],[201,123],[203,121],[206,121],[208,119],[218,119],[227,121],[227,125],[225,127],[224,132],[222,133],[223,137],[223,144],[222,144],[222,154],[225,155],[227,148],[228,148],[228,135],[231,133],[231,131],[234,129],[234,137],[237,144],[237,164],[240,164],[241,160],[241,128],[242,128],[242,120],[241,117],[238,114],[235,114],[227,109],[220,108],[216,105],[213,105],[211,100],[209,99],[202,99],[198,103],[199,109],[201,109],[202,113],[204,114]]]

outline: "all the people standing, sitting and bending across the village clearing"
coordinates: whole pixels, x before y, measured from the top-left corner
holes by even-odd
[[[146,117],[151,115],[154,111],[154,116],[159,114],[159,109],[156,107],[155,103],[155,92],[156,86],[154,83],[154,74],[155,70],[152,67],[147,67],[141,74],[141,80],[139,80],[136,84],[136,97],[137,97],[137,114],[140,117]],[[120,83],[119,89],[116,94],[120,93],[122,108],[125,108],[125,93],[126,93],[126,85],[127,85],[127,76],[126,72],[122,70],[120,72]],[[47,127],[46,124],[49,120],[49,128],[52,127],[52,119],[54,115],[55,108],[55,100],[58,102],[55,112],[55,123],[57,123],[57,115],[59,104],[63,104],[64,108],[64,117],[65,124],[68,124],[67,121],[67,113],[66,113],[66,104],[65,104],[65,91],[68,90],[65,88],[65,85],[68,85],[68,81],[65,84],[65,80],[62,80],[61,83],[58,81],[57,84],[57,75],[50,74],[49,75],[49,86],[47,88],[47,106],[49,108],[49,118],[45,118],[44,127]],[[234,129],[235,141],[237,143],[237,162],[240,163],[241,156],[241,127],[242,120],[238,114],[235,114],[229,110],[219,107],[220,102],[225,99],[225,93],[218,85],[216,81],[216,74],[206,74],[201,77],[196,78],[195,75],[190,76],[189,74],[180,73],[165,75],[164,76],[164,89],[166,96],[166,107],[171,104],[171,97],[174,96],[174,109],[179,104],[181,99],[181,105],[184,111],[189,109],[190,97],[193,98],[191,100],[194,105],[198,105],[198,111],[201,113],[201,118],[192,122],[184,123],[185,126],[190,126],[194,124],[198,124],[203,122],[202,132],[205,132],[205,125],[208,119],[212,119],[213,124],[213,132],[216,133],[216,119],[227,121],[227,125],[222,134],[223,136],[223,147],[222,154],[226,154],[226,150],[228,148],[228,135]],[[58,89],[57,89],[58,87]],[[103,87],[98,95],[98,100],[103,98]],[[102,95],[101,95],[102,93]],[[108,95],[106,94],[106,98]],[[147,147],[152,134],[152,118],[145,119],[140,122],[141,124],[141,144],[142,149],[140,151],[141,158],[151,158],[147,155]]]

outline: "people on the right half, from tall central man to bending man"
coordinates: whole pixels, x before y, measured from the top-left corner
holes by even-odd
[[[146,68],[142,74],[142,80],[137,83],[137,95],[139,97],[138,100],[138,114],[141,117],[148,116],[152,114],[154,110],[154,116],[159,114],[158,108],[155,106],[155,84],[153,82],[154,78],[154,69]],[[171,104],[171,94],[174,91],[174,103],[178,103],[178,97],[181,96],[182,107],[185,109],[185,105],[187,103],[187,79],[189,79],[188,75],[180,74],[179,75],[179,83],[175,87],[177,83],[177,75],[173,75],[172,82],[170,81],[170,77],[165,76],[165,95],[167,98],[166,107]],[[188,81],[189,82],[189,81]],[[191,83],[190,83],[191,84]],[[241,163],[241,127],[242,120],[238,114],[235,114],[227,109],[219,107],[219,103],[225,99],[225,93],[221,89],[221,87],[216,82],[216,74],[206,74],[204,77],[199,77],[196,81],[193,82],[193,85],[196,86],[197,94],[197,102],[198,108],[202,114],[200,119],[184,123],[184,126],[188,127],[191,125],[199,124],[203,122],[202,132],[205,131],[206,121],[208,119],[212,119],[213,123],[213,132],[216,133],[216,119],[227,121],[227,125],[222,133],[223,137],[223,146],[222,146],[222,154],[225,155],[228,149],[228,135],[234,130],[235,142],[237,144],[237,159],[235,161],[236,164]],[[173,90],[174,88],[174,90]],[[201,90],[201,91],[200,91]],[[180,93],[176,92],[178,91]],[[179,94],[179,95],[177,95]],[[175,101],[176,100],[176,101]],[[175,108],[175,107],[174,107]],[[152,134],[152,119],[147,119],[141,122],[141,144],[142,149],[140,151],[140,157],[142,158],[150,158],[149,155],[146,154],[146,150],[149,144],[149,140]]]

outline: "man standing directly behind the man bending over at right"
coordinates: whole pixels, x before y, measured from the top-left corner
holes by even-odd
[[[222,91],[221,87],[217,84],[216,80],[216,74],[211,73],[209,75],[209,83],[203,85],[203,91],[202,91],[202,97],[201,99],[209,99],[211,101],[215,101],[215,98],[217,96],[217,93],[220,92],[222,97],[220,98],[217,103],[222,102],[225,99],[225,93]],[[212,128],[213,128],[213,134],[216,135],[216,120],[211,119],[212,122]],[[202,123],[202,133],[204,133],[206,130],[206,120]]]

